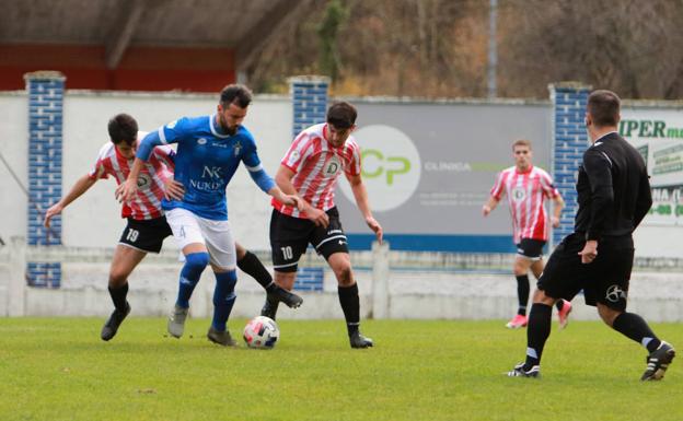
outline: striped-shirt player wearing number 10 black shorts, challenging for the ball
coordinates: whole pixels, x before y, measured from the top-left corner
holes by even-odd
[[[372,217],[368,191],[360,176],[360,150],[351,131],[356,128],[356,108],[346,102],[327,109],[327,122],[303,130],[285,154],[275,182],[288,195],[303,199],[303,211],[273,201],[270,246],[275,281],[291,290],[299,258],[309,245],[325,257],[334,271],[339,303],[346,318],[352,348],[372,347],[372,340],[359,330],[360,300],[354,278],[346,235],[339,222],[334,195],[339,175],[351,185],[356,204],[378,241],[382,226]],[[275,318],[277,303],[266,300],[262,315]]]

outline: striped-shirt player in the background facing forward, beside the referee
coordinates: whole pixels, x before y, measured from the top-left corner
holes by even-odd
[[[508,328],[526,326],[526,303],[529,302],[529,269],[539,279],[543,272],[543,246],[548,238],[548,218],[545,211],[545,199],[554,202],[553,226],[559,226],[559,215],[565,204],[559,191],[553,186],[553,178],[544,169],[533,166],[531,142],[518,140],[512,144],[514,166],[498,174],[490,197],[482,212],[487,217],[496,208],[503,195],[508,195],[508,204],[512,217],[513,241],[517,244],[517,256],[513,272],[517,278],[517,295],[519,307],[517,315],[506,325]],[[567,315],[571,303],[557,302],[560,325],[567,324]]]

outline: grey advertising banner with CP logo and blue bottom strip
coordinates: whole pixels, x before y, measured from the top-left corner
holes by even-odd
[[[537,104],[357,103],[362,177],[392,249],[513,252],[507,200],[482,215],[496,175],[529,139],[549,169],[552,109]],[[354,248],[374,238],[340,177],[336,202]]]

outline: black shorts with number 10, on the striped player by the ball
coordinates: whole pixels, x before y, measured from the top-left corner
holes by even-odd
[[[325,259],[335,253],[348,253],[337,208],[329,209],[327,217],[329,225],[325,229],[311,220],[288,217],[274,209],[270,217],[273,268],[278,272],[296,272],[309,243]]]

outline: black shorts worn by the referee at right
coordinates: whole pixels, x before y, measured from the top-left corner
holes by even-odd
[[[553,299],[571,300],[583,290],[586,304],[601,303],[610,308],[626,309],[628,281],[633,268],[633,238],[614,237],[598,242],[598,256],[582,264],[579,252],[583,249],[583,234],[566,236],[551,255],[539,289]]]

